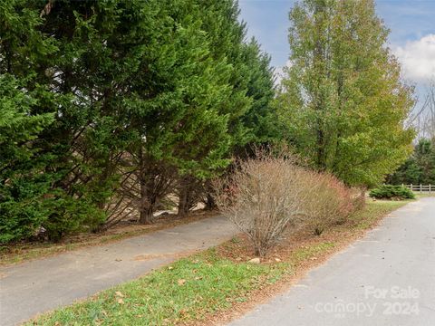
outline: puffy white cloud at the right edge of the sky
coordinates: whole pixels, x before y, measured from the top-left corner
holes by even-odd
[[[393,47],[393,53],[401,62],[405,78],[413,82],[429,82],[435,78],[435,34]]]

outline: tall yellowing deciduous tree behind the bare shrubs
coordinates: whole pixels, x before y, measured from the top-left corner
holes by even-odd
[[[290,12],[290,66],[277,105],[288,140],[347,184],[369,186],[411,151],[412,89],[372,0],[305,0]]]

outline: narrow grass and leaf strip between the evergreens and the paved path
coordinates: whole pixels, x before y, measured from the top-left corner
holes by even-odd
[[[115,226],[101,234],[73,235],[61,243],[22,243],[14,245],[0,245],[0,266],[19,264],[32,259],[43,258],[53,254],[60,254],[86,246],[104,245],[137,235],[163,230],[169,227],[182,225],[202,218],[216,215],[216,212],[199,211],[182,219],[168,216],[152,225]]]

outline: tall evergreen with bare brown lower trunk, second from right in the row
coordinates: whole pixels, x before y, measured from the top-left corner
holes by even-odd
[[[179,175],[209,177],[227,165],[231,139],[221,110],[230,95],[230,66],[211,55],[200,10],[187,0],[156,3],[159,18],[142,24],[143,39],[136,40],[147,48],[131,81],[135,97],[126,101],[129,128],[139,135],[129,149],[135,168],[126,186],[139,195],[141,223],[152,222]]]

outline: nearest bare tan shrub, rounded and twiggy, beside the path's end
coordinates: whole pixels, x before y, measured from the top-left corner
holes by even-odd
[[[215,182],[220,210],[247,234],[257,255],[264,256],[285,231],[304,225],[306,174],[294,158],[262,153],[239,161],[229,177]]]

